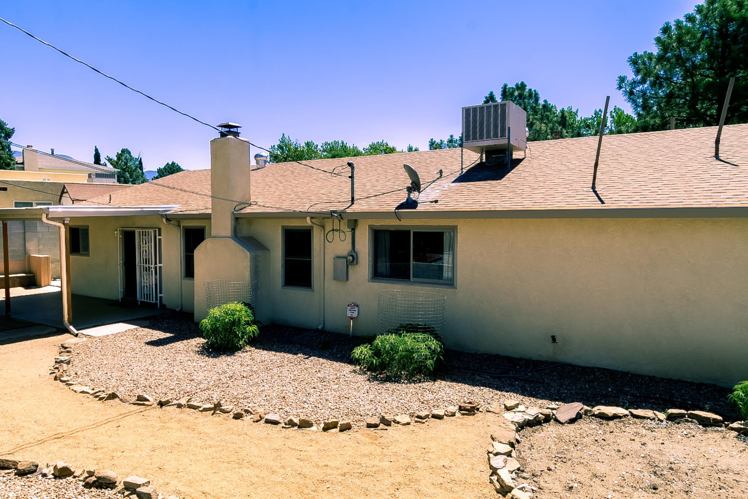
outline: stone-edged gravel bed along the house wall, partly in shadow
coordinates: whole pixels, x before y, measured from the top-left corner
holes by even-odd
[[[350,364],[350,352],[359,340],[345,334],[269,325],[239,352],[215,352],[204,343],[200,329],[186,316],[154,320],[149,328],[76,344],[70,370],[81,385],[126,397],[189,396],[196,402],[221,400],[224,405],[314,420],[361,421],[465,400],[503,399],[542,407],[583,402],[658,411],[708,409],[726,420],[736,419],[725,388],[613,370],[447,351],[444,369],[435,379],[390,382]]]

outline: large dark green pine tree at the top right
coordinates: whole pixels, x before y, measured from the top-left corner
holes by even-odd
[[[654,46],[655,52],[634,52],[633,76],[618,79],[640,129],[666,129],[670,117],[678,126],[716,125],[731,76],[725,122],[748,122],[748,0],[706,0],[666,22]]]

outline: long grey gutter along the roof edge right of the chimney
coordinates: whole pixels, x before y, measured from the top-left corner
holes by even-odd
[[[334,210],[343,218],[396,220],[393,210],[351,212]],[[548,209],[492,209],[492,210],[417,210],[399,209],[399,218],[433,220],[444,218],[743,218],[748,217],[746,206],[679,206],[634,208],[548,208]],[[319,218],[320,212],[235,212],[236,218]]]

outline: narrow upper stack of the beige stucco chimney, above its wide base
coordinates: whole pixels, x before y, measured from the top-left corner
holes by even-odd
[[[210,141],[210,188],[214,196],[211,236],[236,235],[233,212],[237,204],[250,201],[250,169],[247,142],[233,135],[225,135]]]

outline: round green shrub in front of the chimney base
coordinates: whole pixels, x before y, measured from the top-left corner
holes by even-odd
[[[251,307],[241,303],[212,308],[200,321],[200,329],[207,343],[219,350],[241,349],[260,333]]]

